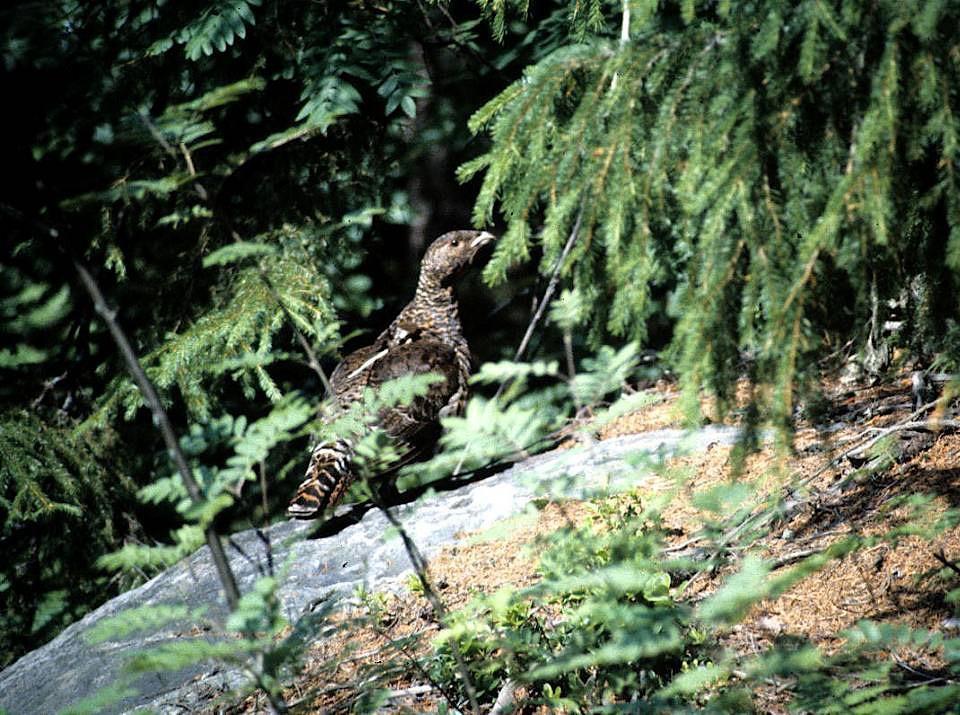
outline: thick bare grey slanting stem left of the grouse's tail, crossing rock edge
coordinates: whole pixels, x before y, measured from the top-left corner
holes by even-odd
[[[126,333],[123,332],[123,329],[117,322],[116,311],[107,307],[103,293],[100,292],[100,286],[97,285],[97,282],[93,279],[93,276],[90,275],[86,267],[77,259],[74,259],[73,265],[80,276],[83,287],[93,299],[94,308],[107,324],[107,328],[110,330],[110,334],[127,365],[127,370],[130,372],[137,387],[140,388],[140,394],[143,396],[144,402],[147,403],[147,407],[149,407],[153,413],[153,421],[163,435],[167,452],[176,465],[177,471],[180,473],[180,478],[183,480],[183,485],[186,487],[191,501],[193,501],[194,504],[201,503],[203,501],[203,494],[200,491],[200,486],[193,478],[193,473],[187,464],[187,458],[180,449],[177,436],[173,431],[173,426],[170,424],[170,418],[167,416],[166,410],[163,409],[163,405],[160,404],[160,398],[157,396],[156,390],[153,389],[153,383],[150,382],[147,374],[143,371],[143,367],[140,365],[140,361],[137,359],[137,355],[133,351]],[[223,587],[223,594],[226,596],[227,604],[232,611],[237,607],[237,603],[240,600],[237,580],[233,575],[233,571],[230,569],[230,562],[227,561],[226,554],[223,551],[223,544],[220,543],[220,537],[212,525],[204,529],[204,536],[207,540],[207,546],[210,548],[210,555],[213,557],[217,575],[220,578],[220,585]]]

